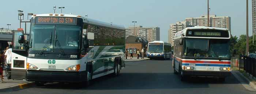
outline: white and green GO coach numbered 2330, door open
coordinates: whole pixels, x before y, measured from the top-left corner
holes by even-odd
[[[27,39],[27,40],[26,40]],[[86,82],[125,67],[125,27],[79,15],[31,17],[30,35],[14,32],[12,74],[46,82]]]

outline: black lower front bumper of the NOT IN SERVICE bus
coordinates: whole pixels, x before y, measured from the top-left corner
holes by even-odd
[[[195,71],[195,70],[183,70],[183,75],[188,76],[205,76],[205,77],[226,77],[230,76],[230,71]]]

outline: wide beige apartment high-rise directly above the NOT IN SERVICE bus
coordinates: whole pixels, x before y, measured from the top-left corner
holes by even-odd
[[[185,19],[191,26],[207,26],[207,15],[197,18],[189,17]],[[210,15],[210,26],[217,28],[227,28],[231,32],[231,18],[229,16]]]

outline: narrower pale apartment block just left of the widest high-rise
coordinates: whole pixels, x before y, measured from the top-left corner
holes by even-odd
[[[187,27],[189,27],[187,21],[178,21],[174,24],[170,24],[170,29],[168,30],[168,42],[173,45],[175,33]]]

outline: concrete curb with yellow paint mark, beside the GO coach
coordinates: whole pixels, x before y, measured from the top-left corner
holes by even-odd
[[[34,82],[21,83],[21,84],[18,84],[18,85],[1,88],[0,92],[17,91],[17,90],[22,90],[22,89],[29,88],[31,86],[34,86]]]

